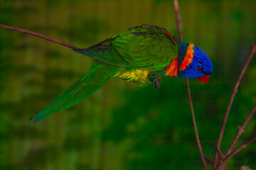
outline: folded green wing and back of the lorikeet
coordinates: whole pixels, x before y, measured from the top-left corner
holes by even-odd
[[[178,41],[164,28],[143,25],[75,51],[117,67],[156,71],[177,56]]]

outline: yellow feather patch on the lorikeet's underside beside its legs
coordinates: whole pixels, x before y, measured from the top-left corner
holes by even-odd
[[[147,83],[150,82],[148,79],[149,72],[142,69],[132,69],[128,72],[119,72],[114,77],[124,79],[126,81]]]

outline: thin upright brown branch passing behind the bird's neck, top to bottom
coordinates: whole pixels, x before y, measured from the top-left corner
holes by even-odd
[[[182,38],[182,25],[181,25],[181,14],[180,14],[179,8],[178,8],[178,0],[174,0],[174,8],[175,8],[175,13],[176,13],[178,36],[179,36],[180,40],[183,40],[183,38]],[[193,102],[192,102],[192,98],[191,98],[191,91],[190,91],[190,88],[189,88],[188,79],[186,79],[186,86],[187,86],[187,90],[188,90],[188,100],[189,100],[189,105],[190,105],[190,108],[191,108],[191,115],[192,115],[192,119],[193,119],[193,128],[195,129],[195,134],[196,134],[196,143],[198,145],[198,150],[200,152],[200,156],[201,156],[201,159],[202,159],[202,162],[203,162],[203,166],[206,170],[208,170],[208,166],[206,164],[206,159],[205,159],[205,156],[203,154],[203,149],[202,149],[201,142],[200,142],[199,135],[198,135],[198,129],[197,129],[197,126],[196,126],[196,118],[195,118],[195,114],[194,114],[194,111],[193,111]]]

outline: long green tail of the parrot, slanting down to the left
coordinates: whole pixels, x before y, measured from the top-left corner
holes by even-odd
[[[75,82],[73,86],[70,86],[68,90],[55,98],[53,103],[29,120],[34,120],[36,123],[45,119],[48,115],[70,108],[100,89],[114,74],[119,72],[119,69],[119,67],[96,61],[82,79]]]

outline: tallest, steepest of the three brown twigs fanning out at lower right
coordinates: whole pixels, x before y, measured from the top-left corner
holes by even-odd
[[[217,164],[218,164],[218,150],[220,150],[220,144],[221,144],[221,140],[223,138],[223,133],[224,133],[224,130],[225,130],[225,125],[227,123],[227,120],[228,120],[228,115],[230,113],[230,108],[233,104],[233,101],[234,101],[234,98],[235,98],[235,94],[237,94],[238,92],[238,86],[240,84],[240,81],[242,80],[242,77],[243,75],[245,74],[245,70],[247,69],[247,66],[248,64],[250,63],[250,60],[252,60],[252,57],[254,55],[256,51],[256,45],[251,45],[251,50],[250,50],[250,54],[245,62],[245,65],[242,67],[242,71],[240,73],[240,76],[238,77],[238,81],[236,82],[235,86],[234,86],[234,89],[233,89],[233,92],[231,94],[231,97],[230,97],[230,102],[228,103],[228,108],[227,108],[227,111],[225,112],[225,116],[224,116],[224,120],[223,120],[223,125],[221,126],[221,129],[220,129],[220,135],[218,137],[218,142],[217,142],[217,145],[216,145],[216,149],[215,149],[215,155],[214,155],[214,159],[213,159],[213,169],[216,168]]]

